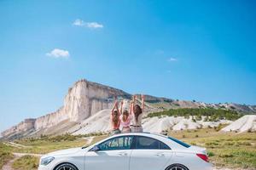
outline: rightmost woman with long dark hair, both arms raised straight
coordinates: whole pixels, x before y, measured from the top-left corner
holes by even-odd
[[[142,133],[143,127],[143,109],[144,109],[144,95],[142,94],[142,105],[135,105],[136,96],[133,96],[132,104],[131,104],[131,132],[132,133]]]

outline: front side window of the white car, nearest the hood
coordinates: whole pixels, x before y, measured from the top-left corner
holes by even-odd
[[[131,148],[132,136],[120,136],[99,144],[100,150],[129,150]]]

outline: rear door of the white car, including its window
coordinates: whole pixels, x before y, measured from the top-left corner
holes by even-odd
[[[172,150],[157,139],[136,137],[135,149],[131,151],[130,170],[165,170],[172,157]]]

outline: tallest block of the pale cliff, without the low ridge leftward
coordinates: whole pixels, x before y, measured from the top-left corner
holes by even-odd
[[[110,108],[115,96],[130,97],[119,89],[81,80],[68,90],[63,110],[70,121],[78,122],[98,111]]]

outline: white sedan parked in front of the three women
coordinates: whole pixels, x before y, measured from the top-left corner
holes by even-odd
[[[122,133],[49,153],[38,170],[212,170],[206,149],[152,133]]]

